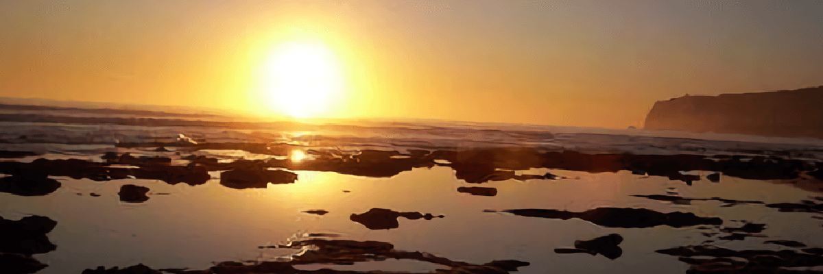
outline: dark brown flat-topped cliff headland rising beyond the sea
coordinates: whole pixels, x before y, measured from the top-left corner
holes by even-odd
[[[823,139],[823,86],[658,101],[644,128]]]

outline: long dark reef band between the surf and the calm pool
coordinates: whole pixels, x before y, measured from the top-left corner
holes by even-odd
[[[221,145],[224,149],[258,147],[258,149],[267,151],[271,151],[272,147],[279,147],[264,146],[266,144],[253,146],[246,144],[239,147],[229,144]],[[282,149],[281,147],[278,150]],[[514,171],[511,171],[532,168],[591,173],[630,170],[635,174],[664,176],[668,179],[683,180],[686,183],[700,179],[696,175],[681,174],[682,171],[690,170],[714,171],[742,179],[797,179],[803,173],[818,180],[823,179],[823,171],[821,171],[823,163],[765,156],[745,159],[742,156],[710,158],[697,155],[583,154],[575,151],[540,151],[531,148],[431,151],[430,153],[415,151],[406,155],[398,151],[371,150],[359,151],[356,154],[334,150],[307,151],[307,153],[314,156],[314,159],[301,161],[235,160],[230,163],[221,163],[206,156],[186,156],[183,159],[189,160],[188,165],[171,165],[172,159],[169,157],[137,157],[128,153],[118,155],[110,152],[101,157],[105,160],[104,163],[77,159],[37,159],[30,163],[0,161],[0,173],[10,174],[13,177],[13,179],[4,179],[3,182],[12,183],[3,183],[0,189],[9,189],[7,192],[21,193],[21,195],[44,195],[41,193],[47,193],[54,186],[52,181],[44,180],[44,176],[67,176],[72,179],[86,178],[97,181],[128,178],[156,179],[170,184],[198,185],[211,179],[209,171],[223,171],[221,183],[231,188],[265,188],[267,183],[293,182],[292,178],[296,175],[286,170],[331,171],[356,176],[391,177],[403,171],[430,168],[435,165],[449,166],[455,170],[455,176],[458,179],[463,179],[467,183],[485,183],[505,179],[557,179],[554,174],[516,175]],[[116,165],[133,165],[137,168],[123,168]],[[285,170],[267,170],[270,168]],[[26,174],[36,174],[36,176]],[[713,176],[710,179],[714,179],[714,174],[709,176]],[[37,178],[33,181],[25,179],[35,177]],[[42,184],[46,181],[52,183]],[[25,185],[30,182],[35,182],[31,187],[33,190],[26,190]],[[40,185],[46,187],[40,188],[37,182],[41,182]],[[718,201],[722,200],[718,199]]]

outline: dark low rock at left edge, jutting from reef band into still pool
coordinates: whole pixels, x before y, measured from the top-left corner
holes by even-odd
[[[20,170],[17,174],[0,178],[0,192],[19,196],[48,195],[62,185],[47,174],[34,170]]]

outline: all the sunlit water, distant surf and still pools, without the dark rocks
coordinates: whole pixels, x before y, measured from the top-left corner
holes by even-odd
[[[80,110],[71,110],[67,113],[53,110],[48,113],[30,114],[100,119],[109,117],[104,114],[84,114]],[[129,116],[130,114],[118,115],[119,118],[141,117]],[[235,168],[223,166],[224,168],[216,169],[218,171],[209,172],[212,179],[207,183],[194,186],[186,183],[171,185],[151,179],[95,181],[50,176],[52,179],[58,179],[62,186],[44,196],[25,197],[0,192],[0,216],[4,219],[16,221],[25,216],[37,215],[57,221],[57,226],[47,234],[48,239],[56,244],[56,250],[33,255],[35,259],[49,265],[39,273],[79,273],[98,266],[123,268],[138,263],[154,269],[202,270],[212,267],[214,262],[277,261],[290,256],[295,257],[295,253],[299,251],[291,248],[260,247],[308,239],[310,237],[307,235],[310,233],[340,235],[334,239],[380,241],[393,244],[393,248],[399,251],[420,251],[434,254],[439,258],[476,265],[495,260],[528,262],[528,266],[517,268],[518,272],[523,273],[684,273],[690,268],[689,264],[681,262],[677,256],[656,251],[707,243],[733,250],[797,250],[778,244],[765,244],[766,240],[793,240],[806,244],[808,248],[823,247],[823,216],[820,211],[783,212],[777,208],[767,207],[782,202],[802,204],[804,200],[808,201],[807,205],[809,202],[818,205],[823,202],[815,199],[823,196],[823,183],[819,178],[814,179],[807,173],[812,170],[803,170],[796,179],[755,180],[722,175],[719,183],[712,183],[707,179],[707,175],[714,172],[679,170],[680,174],[700,176],[699,180],[687,185],[685,180],[633,174],[630,170],[602,173],[572,171],[575,167],[579,168],[577,170],[613,171],[614,165],[611,164],[614,163],[610,161],[614,159],[609,156],[574,158],[574,155],[556,154],[551,156],[556,158],[550,157],[548,162],[556,165],[568,160],[572,162],[571,167],[564,168],[570,170],[531,168],[515,170],[515,175],[532,174],[539,175],[534,177],[541,177],[543,174],[551,173],[560,179],[506,179],[487,183],[467,183],[464,180],[467,177],[458,179],[455,170],[461,170],[464,172],[463,176],[471,178],[477,173],[491,172],[483,170],[484,166],[548,165],[527,164],[530,163],[529,160],[534,160],[533,155],[519,155],[529,159],[506,158],[509,154],[505,151],[490,154],[491,157],[500,157],[496,159],[499,162],[484,162],[488,160],[485,156],[472,153],[467,154],[469,159],[423,159],[421,156],[412,156],[410,151],[422,149],[449,152],[489,147],[529,147],[543,152],[578,151],[591,155],[629,153],[635,156],[672,156],[669,159],[674,159],[675,162],[677,159],[687,158],[677,158],[677,155],[723,154],[745,158],[732,165],[746,165],[754,156],[779,156],[786,160],[783,163],[790,165],[791,169],[797,168],[798,165],[789,163],[788,160],[802,160],[816,165],[819,170],[823,166],[819,163],[819,159],[823,159],[823,141],[817,139],[433,121],[261,123],[245,124],[246,128],[237,129],[211,127],[209,122],[200,121],[208,119],[202,117],[160,115],[154,118],[181,119],[202,124],[184,127],[156,126],[151,123],[129,125],[109,123],[110,121],[97,124],[31,123],[26,120],[0,122],[0,151],[32,151],[36,154],[0,159],[0,165],[16,165],[13,162],[31,163],[38,159],[79,159],[104,163],[106,160],[100,156],[111,152],[117,152],[119,156],[129,153],[136,157],[169,157],[170,162],[161,164],[162,166],[188,165],[190,160],[184,160],[184,157],[188,156],[205,156],[214,160],[215,165],[235,160],[258,160],[257,163],[272,163],[278,160],[308,162],[323,157],[323,153],[312,154],[309,153],[310,150],[330,150],[335,153],[358,155],[360,151],[374,149],[399,151],[398,153],[409,155],[388,156],[378,153],[376,156],[366,156],[367,162],[386,157],[383,162],[377,160],[376,163],[369,162],[364,165],[336,166],[335,169],[338,170],[335,171],[341,173],[305,171],[312,170],[311,168],[292,170],[298,175],[295,183],[269,183],[266,188],[235,189],[222,185],[221,172]],[[226,117],[213,119],[235,121]],[[123,121],[133,122],[120,120]],[[163,150],[168,151],[156,151],[159,149],[157,144],[173,144],[179,134],[196,139],[201,144],[266,144],[263,147],[278,146],[278,149],[285,151],[248,151],[248,148],[244,150],[243,146],[239,145],[222,148],[172,145],[164,147]],[[133,143],[133,146],[124,146],[123,143],[127,142]],[[300,151],[298,158],[302,159],[295,158],[295,151]],[[448,153],[444,155],[448,156]],[[570,158],[562,159],[563,157]],[[360,158],[347,159],[360,161]],[[655,160],[666,160],[638,159],[634,160],[641,164],[649,164],[645,167],[638,165],[643,167],[642,169],[650,169],[644,170],[645,172],[657,174],[671,171],[667,170],[670,167],[667,165],[694,164],[689,162],[694,159],[688,158],[675,164],[661,164],[662,169],[658,166],[655,170],[651,167],[656,164]],[[412,164],[402,160],[410,160]],[[421,163],[415,162],[418,160],[426,162],[418,165]],[[587,160],[597,163],[588,163]],[[333,161],[326,163],[336,165]],[[472,170],[477,168],[477,165],[480,165],[481,169]],[[275,169],[271,165],[267,166],[269,170]],[[783,168],[780,165],[759,164],[756,167],[744,167],[742,170],[732,167],[729,171],[753,176],[746,178],[760,178],[758,176],[762,174],[758,174],[757,169],[764,166]],[[157,168],[139,162],[113,163],[108,167],[133,170]],[[627,166],[622,168],[625,167]],[[394,169],[412,170],[402,171],[389,178],[351,175],[384,174],[379,172],[383,171],[379,170],[381,168],[388,169],[387,174],[393,174]],[[9,174],[13,172],[16,171],[7,170]],[[786,176],[786,172],[776,172],[777,177],[794,177]],[[493,175],[491,173],[481,175]],[[0,174],[0,178],[5,177],[9,175]],[[477,181],[481,180],[477,178]],[[121,202],[118,193],[121,186],[126,184],[150,188],[149,199],[139,203]],[[486,191],[495,188],[496,194],[475,196],[458,192],[458,188],[461,187],[484,187]],[[92,196],[92,193],[99,197]],[[729,206],[719,199],[688,203],[663,202],[632,195],[704,199],[718,197],[761,203],[737,203]],[[596,225],[579,218],[560,220],[504,212],[515,209],[538,209],[570,211],[577,214],[576,212],[605,207],[644,208],[661,213],[690,212],[700,217],[718,217],[722,219],[723,224],[681,228],[668,225],[621,228]],[[433,216],[444,217],[434,217],[431,220],[409,220],[400,217],[399,227],[389,230],[370,230],[365,224],[352,221],[353,214],[363,214],[374,208],[407,213],[430,213]],[[310,210],[324,210],[328,213],[318,215],[304,212]],[[744,233],[743,239],[720,239],[732,235],[730,230],[723,231],[724,229],[741,228],[747,223],[765,225],[765,230]],[[602,254],[593,256],[589,253],[555,251],[556,248],[574,248],[576,240],[588,241],[611,234],[621,235],[623,238],[619,244],[622,254],[613,260]],[[823,258],[818,259],[823,261]],[[435,272],[438,269],[449,268],[408,258],[366,261],[354,262],[351,265],[309,263],[295,265],[295,268],[400,272]],[[813,269],[820,268],[821,266],[817,266]]]

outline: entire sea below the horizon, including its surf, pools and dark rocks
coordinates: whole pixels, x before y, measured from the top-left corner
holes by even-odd
[[[0,104],[0,151],[20,273],[823,272],[815,138]]]

